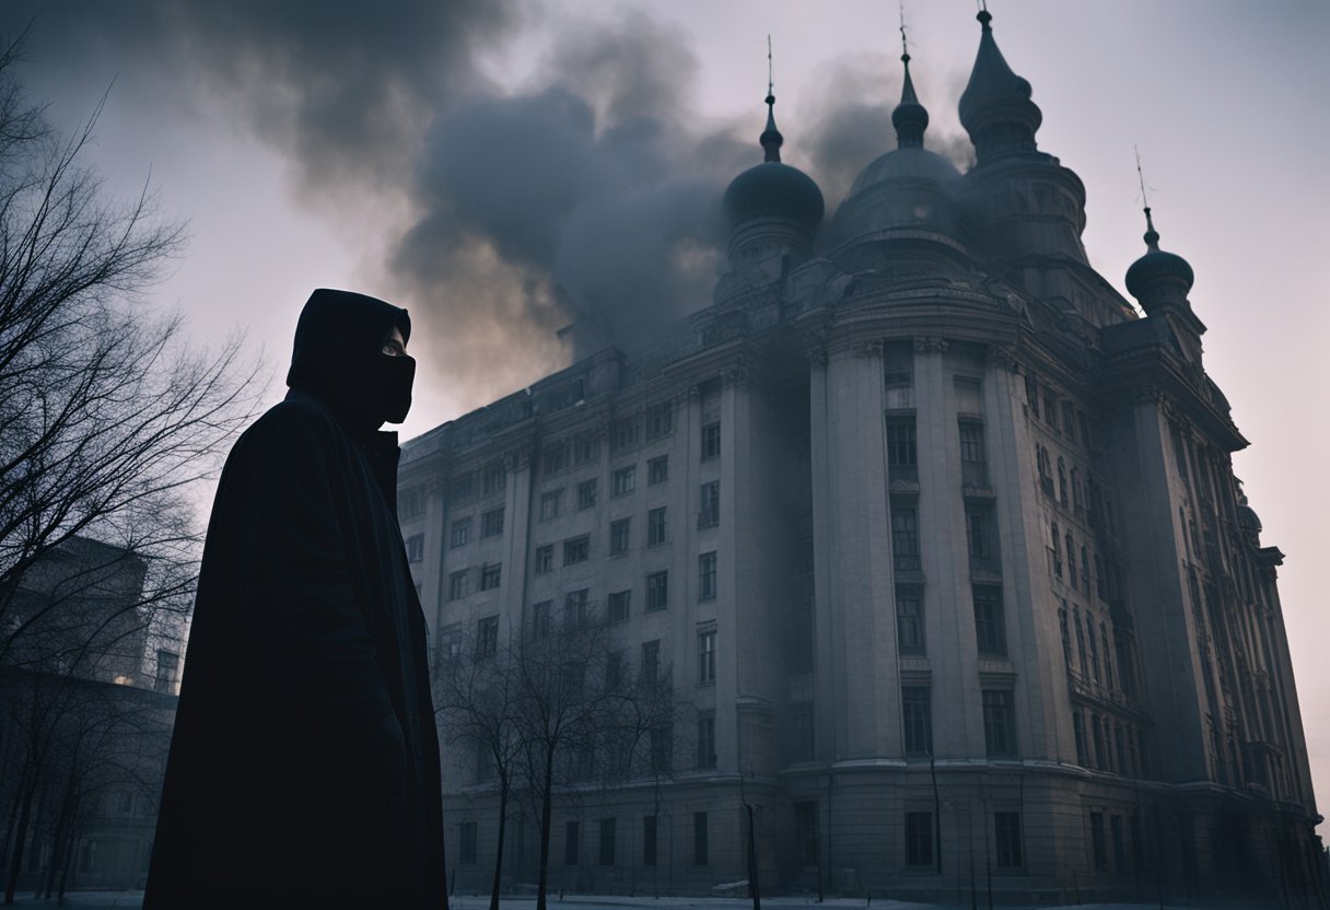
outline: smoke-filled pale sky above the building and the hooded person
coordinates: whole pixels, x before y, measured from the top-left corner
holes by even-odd
[[[708,186],[761,160],[767,33],[785,160],[819,178],[834,164],[814,150],[831,114],[875,109],[878,120],[851,120],[876,128],[899,97],[896,3],[402,0],[370,9],[348,0],[21,0],[0,9],[0,31],[12,35],[40,11],[20,72],[61,128],[110,86],[85,164],[118,197],[146,182],[164,216],[192,231],[149,303],[182,310],[201,343],[247,331],[273,367],[271,400],[313,287],[412,309],[422,373],[407,436],[567,362],[553,330],[571,315],[552,302],[551,274],[580,293],[575,234],[595,241],[604,230],[588,229],[588,218],[637,237],[632,218],[676,224],[686,209],[670,200],[698,188],[709,200]],[[974,0],[906,4],[935,148],[963,136],[955,105],[978,48],[975,11]],[[1330,515],[1321,472],[1330,315],[1319,275],[1330,253],[1330,4],[991,0],[990,11],[999,47],[1043,110],[1040,149],[1085,184],[1092,265],[1125,293],[1123,275],[1144,251],[1138,146],[1161,246],[1196,270],[1206,369],[1252,440],[1234,468],[1265,526],[1262,543],[1287,555],[1279,592],[1323,792],[1330,616],[1315,565]],[[355,132],[351,116],[343,122],[351,105],[367,130]],[[579,112],[591,117],[585,134],[563,136]],[[545,120],[524,129],[528,114]],[[495,145],[468,149],[468,130],[485,126]],[[851,173],[890,148],[890,129],[880,132],[875,150],[866,133]],[[476,160],[493,173],[459,186],[448,168]],[[622,173],[604,182],[606,168]],[[576,205],[560,198],[573,178],[589,188]],[[823,180],[829,213],[835,184]],[[479,200],[471,210],[468,190]],[[515,214],[487,221],[492,194],[508,190],[503,205]],[[528,200],[557,218],[523,217]],[[685,229],[673,230],[666,239]],[[698,294],[693,306],[706,302]]]

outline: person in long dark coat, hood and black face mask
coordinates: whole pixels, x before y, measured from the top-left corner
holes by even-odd
[[[379,432],[411,406],[410,334],[406,310],[314,291],[286,400],[226,460],[145,910],[447,907],[426,624]]]

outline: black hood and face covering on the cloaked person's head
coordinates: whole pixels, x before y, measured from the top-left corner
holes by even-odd
[[[394,326],[411,338],[411,317],[402,307],[319,287],[301,310],[286,384],[318,395],[358,430],[400,423],[411,406],[415,361],[383,354]]]

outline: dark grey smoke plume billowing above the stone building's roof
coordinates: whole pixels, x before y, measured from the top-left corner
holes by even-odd
[[[33,12],[44,68],[112,60],[117,92],[180,116],[226,105],[290,162],[302,201],[368,222],[386,255],[366,289],[412,309],[423,366],[460,403],[709,303],[721,193],[761,160],[759,93],[738,124],[700,122],[688,36],[641,13],[552,25],[551,11],[552,49],[512,92],[479,61],[529,39],[540,12],[520,0],[9,3],[0,29]],[[894,145],[899,85],[884,56],[851,60],[801,88],[811,120],[778,109],[786,160],[809,162],[829,214]],[[936,129],[930,146],[947,153]],[[576,350],[556,335],[569,323]]]

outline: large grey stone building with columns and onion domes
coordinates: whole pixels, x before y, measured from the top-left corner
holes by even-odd
[[[572,604],[693,709],[664,778],[556,801],[556,887],[745,879],[746,800],[766,890],[1325,894],[1281,553],[1192,270],[1149,209],[1140,309],[1088,265],[1084,186],[979,19],[966,173],[908,56],[896,148],[825,224],[769,116],[710,306],[407,444],[438,660]],[[446,749],[450,866],[487,887],[496,786]]]

